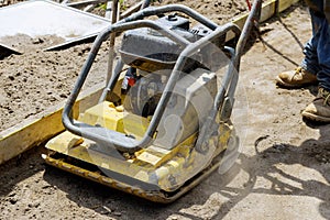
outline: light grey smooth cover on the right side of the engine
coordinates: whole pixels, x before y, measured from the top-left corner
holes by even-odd
[[[217,94],[215,73],[198,68],[176,85],[157,128],[155,145],[170,150],[201,128]]]

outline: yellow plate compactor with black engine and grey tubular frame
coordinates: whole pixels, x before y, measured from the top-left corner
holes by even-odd
[[[226,172],[238,155],[230,116],[240,57],[260,8],[256,0],[242,32],[179,4],[110,25],[94,43],[64,108],[66,131],[48,141],[45,162],[163,204]],[[78,94],[110,35],[121,40],[117,65],[98,105],[76,119]]]

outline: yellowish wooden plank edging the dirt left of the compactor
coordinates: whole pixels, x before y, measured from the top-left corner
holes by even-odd
[[[97,103],[105,84],[97,85],[85,91],[75,105],[75,112]],[[36,146],[57,133],[64,131],[62,111],[65,102],[23,121],[0,133],[0,164],[18,156],[24,151]],[[75,116],[77,118],[77,116]]]

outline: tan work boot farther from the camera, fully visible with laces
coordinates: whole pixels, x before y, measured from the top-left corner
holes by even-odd
[[[301,88],[317,82],[316,75],[301,67],[298,67],[296,70],[280,73],[276,77],[276,85],[286,88]]]

